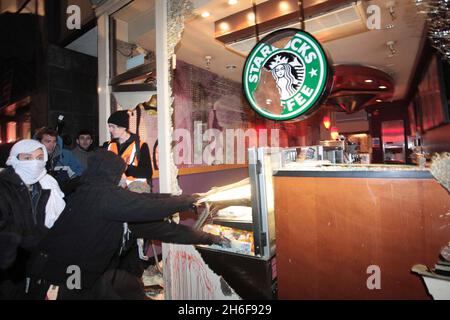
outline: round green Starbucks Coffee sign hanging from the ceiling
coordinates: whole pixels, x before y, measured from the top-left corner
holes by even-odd
[[[280,43],[282,48],[275,46]],[[305,31],[282,29],[252,49],[242,84],[257,113],[272,120],[290,120],[320,104],[328,78],[329,65],[319,42]]]

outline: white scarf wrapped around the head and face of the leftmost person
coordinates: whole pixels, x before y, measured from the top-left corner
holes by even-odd
[[[42,149],[44,152],[44,160],[19,160],[20,153],[31,153],[37,149]],[[14,168],[14,171],[25,184],[31,185],[39,182],[42,189],[50,190],[50,197],[45,206],[45,226],[51,228],[64,210],[66,203],[63,200],[64,193],[59,188],[58,182],[47,174],[45,169],[47,159],[47,150],[43,144],[36,140],[25,139],[12,147],[6,164]]]

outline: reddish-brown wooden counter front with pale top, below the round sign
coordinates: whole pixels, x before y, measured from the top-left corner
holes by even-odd
[[[428,169],[305,166],[274,173],[280,299],[428,299],[411,266],[433,265],[450,196]]]

